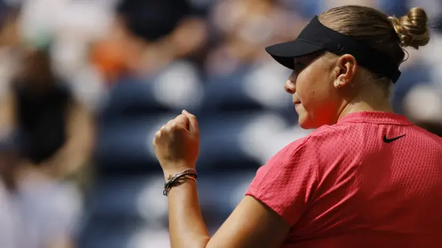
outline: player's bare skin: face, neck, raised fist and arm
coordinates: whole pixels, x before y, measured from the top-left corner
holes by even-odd
[[[285,82],[285,90],[293,95],[301,127],[333,125],[354,112],[392,112],[387,92],[369,81],[369,72],[359,67],[352,55],[306,56],[294,62],[296,69]],[[153,146],[164,178],[186,168],[195,169],[200,146],[196,117],[183,110],[155,134]],[[210,237],[202,220],[193,180],[173,187],[168,199],[173,248],[280,247],[291,228],[272,209],[251,196],[245,196]]]

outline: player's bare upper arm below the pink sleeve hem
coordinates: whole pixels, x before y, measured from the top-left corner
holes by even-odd
[[[280,247],[289,231],[289,223],[275,211],[246,196],[206,247]]]

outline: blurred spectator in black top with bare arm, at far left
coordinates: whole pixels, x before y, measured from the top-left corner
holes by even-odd
[[[23,156],[55,178],[88,161],[93,123],[88,111],[51,72],[48,53],[26,51],[23,72],[13,82],[13,122],[23,132]]]

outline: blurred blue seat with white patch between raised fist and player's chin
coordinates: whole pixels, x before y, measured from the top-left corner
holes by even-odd
[[[273,112],[213,114],[199,121],[197,164],[209,172],[256,169],[262,164],[256,149],[266,147],[265,137],[287,127],[287,121]]]

